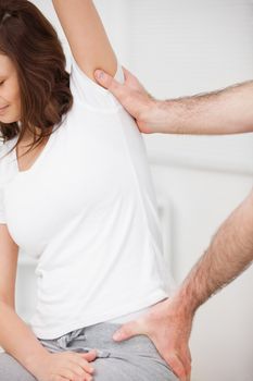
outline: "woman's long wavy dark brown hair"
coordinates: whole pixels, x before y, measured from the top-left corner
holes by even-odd
[[[1,139],[5,143],[20,134],[12,151],[28,128],[34,135],[33,149],[50,135],[50,127],[60,123],[73,106],[61,41],[31,2],[0,0],[0,52],[15,65],[21,91],[21,120],[0,122]],[[40,130],[37,140],[36,128]]]

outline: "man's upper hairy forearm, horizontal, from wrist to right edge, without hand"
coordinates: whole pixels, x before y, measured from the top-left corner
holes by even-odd
[[[223,90],[154,101],[152,132],[237,134],[253,132],[253,81]]]

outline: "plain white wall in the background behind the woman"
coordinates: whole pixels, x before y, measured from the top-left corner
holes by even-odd
[[[58,26],[51,1],[34,1]],[[249,0],[97,0],[119,61],[159,98],[210,91],[253,77]],[[252,187],[253,134],[144,137],[159,198],[167,204],[166,253],[177,282]],[[30,293],[21,267],[17,304]],[[192,381],[252,381],[253,268],[199,311]],[[21,282],[21,283],[20,283]],[[25,288],[26,287],[26,288]]]

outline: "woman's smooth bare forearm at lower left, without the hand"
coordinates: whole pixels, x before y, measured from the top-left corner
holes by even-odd
[[[34,359],[47,355],[48,351],[12,307],[0,302],[0,345],[34,374]]]

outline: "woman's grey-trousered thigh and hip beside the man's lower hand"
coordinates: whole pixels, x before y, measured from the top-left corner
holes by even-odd
[[[113,333],[119,327],[104,322],[83,331],[87,348],[99,349],[94,381],[178,381],[148,336],[114,342]]]

